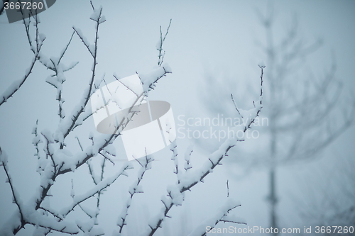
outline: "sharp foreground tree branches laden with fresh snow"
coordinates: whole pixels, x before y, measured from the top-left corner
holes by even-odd
[[[0,165],[4,170],[5,179],[1,177],[1,181],[6,181],[9,188],[5,189],[12,196],[13,204],[16,205],[16,211],[9,217],[6,223],[1,224],[1,235],[17,235],[19,232],[28,230],[28,225],[33,225],[33,235],[49,235],[50,233],[70,234],[70,235],[104,235],[106,232],[101,226],[103,219],[99,218],[102,211],[102,202],[104,201],[105,191],[112,189],[109,186],[116,184],[118,179],[123,176],[129,176],[132,180],[128,189],[128,197],[122,203],[121,213],[116,214],[116,225],[114,227],[114,235],[129,235],[128,227],[136,227],[136,223],[129,218],[133,213],[131,208],[137,202],[134,201],[136,193],[143,193],[143,183],[146,183],[146,175],[153,172],[153,155],[146,154],[141,159],[135,159],[132,162],[114,162],[114,157],[121,155],[116,153],[114,146],[115,140],[121,135],[126,125],[134,120],[139,112],[135,108],[143,103],[143,99],[148,96],[148,91],[155,88],[159,79],[172,73],[172,70],[164,62],[165,51],[163,43],[168,30],[163,34],[160,28],[160,39],[157,44],[158,50],[158,67],[153,72],[146,75],[139,74],[141,84],[143,84],[143,93],[136,94],[135,89],[127,86],[126,89],[136,94],[135,101],[132,101],[125,116],[119,120],[115,127],[115,132],[111,134],[99,134],[88,127],[92,127],[92,116],[95,111],[89,106],[89,101],[101,86],[105,86],[105,77],[99,77],[98,73],[98,55],[99,55],[99,30],[106,18],[103,15],[102,7],[92,6],[92,15],[89,17],[94,22],[94,39],[89,40],[85,37],[82,30],[77,27],[72,28],[72,34],[68,42],[64,45],[60,55],[48,56],[41,50],[45,43],[45,35],[40,33],[40,20],[38,15],[24,18],[23,24],[26,29],[26,35],[30,49],[33,52],[33,61],[27,69],[22,79],[15,82],[1,94],[0,109],[11,104],[11,98],[21,93],[21,86],[31,84],[31,74],[35,64],[43,65],[42,68],[51,74],[45,79],[50,86],[55,89],[55,99],[57,101],[56,119],[53,116],[39,117],[33,127],[33,147],[35,150],[35,158],[37,159],[37,169],[39,179],[36,184],[37,188],[35,196],[23,196],[18,192],[18,186],[13,181],[13,172],[11,169],[11,156],[6,154],[6,150],[11,147],[0,147]],[[171,23],[171,21],[170,21]],[[170,24],[168,29],[170,28]],[[82,88],[77,89],[79,94],[74,101],[65,101],[65,82],[66,74],[76,69],[78,62],[72,62],[69,65],[63,63],[65,55],[70,50],[73,40],[80,40],[83,47],[87,49],[87,55],[92,60],[92,67],[89,78],[83,82]],[[56,45],[57,46],[57,45]],[[254,107],[249,111],[250,119],[244,125],[238,125],[234,129],[246,133],[253,124],[256,117],[259,116],[263,108],[263,66],[260,66],[260,94],[258,101],[254,102]],[[116,77],[114,77],[117,79]],[[47,84],[47,86],[48,86]],[[51,87],[51,89],[53,89]],[[34,91],[35,92],[35,91]],[[26,103],[26,101],[23,101]],[[66,104],[75,104],[72,111],[68,112]],[[35,106],[35,104],[28,104]],[[106,104],[105,104],[106,106]],[[236,110],[241,110],[236,107]],[[1,114],[1,116],[3,116]],[[11,116],[11,114],[7,114]],[[48,120],[49,119],[49,120]],[[45,120],[51,124],[50,128],[41,128],[40,123]],[[85,126],[86,125],[86,126]],[[89,130],[80,130],[85,127]],[[169,132],[169,129],[166,129]],[[1,133],[1,135],[6,135]],[[185,193],[192,191],[194,186],[203,183],[204,179],[212,174],[214,168],[222,164],[222,159],[228,156],[229,150],[235,147],[239,142],[244,141],[242,137],[230,137],[226,139],[215,152],[209,154],[205,158],[206,163],[201,168],[193,167],[190,155],[192,147],[187,150],[184,163],[179,162],[177,141],[170,140],[170,149],[173,154],[173,172],[176,181],[166,187],[166,193],[163,196],[156,196],[160,201],[157,206],[155,217],[150,217],[148,224],[143,227],[143,235],[155,235],[155,233],[163,227],[165,220],[173,218],[172,209],[176,206],[182,206],[185,200]],[[16,142],[16,141],[14,141]],[[15,143],[16,147],[21,148],[21,144]],[[78,151],[79,150],[79,151]],[[31,156],[31,154],[28,154]],[[115,172],[109,172],[110,168],[115,167]],[[80,178],[82,169],[87,168],[85,172],[89,178]],[[77,174],[77,173],[80,174]],[[26,176],[25,176],[26,177]],[[144,179],[143,179],[144,178]],[[148,180],[148,179],[147,179]],[[65,192],[66,184],[70,181],[70,192]],[[89,181],[91,184],[87,184]],[[85,184],[83,184],[85,183]],[[21,187],[21,186],[20,186]],[[70,196],[71,201],[67,203],[62,199],[55,200],[53,189],[62,188],[63,194]],[[60,193],[57,192],[58,195]],[[61,198],[60,195],[59,198]],[[209,225],[209,229],[213,229],[218,223],[236,223],[245,224],[241,218],[236,218],[229,213],[235,208],[241,206],[238,201],[233,198],[224,199],[225,203],[221,209],[215,214],[207,218],[207,220],[191,232],[191,235],[206,235],[205,227]],[[54,203],[54,204],[53,204]],[[52,205],[51,205],[52,204]],[[114,204],[114,203],[112,203]],[[55,206],[53,206],[55,205]],[[136,213],[138,214],[138,213]],[[33,229],[32,227],[32,229]],[[30,227],[31,228],[31,227]]]

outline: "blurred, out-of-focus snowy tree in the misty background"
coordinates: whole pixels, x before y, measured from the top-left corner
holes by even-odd
[[[266,110],[263,113],[268,123],[259,127],[261,135],[258,140],[262,148],[253,152],[246,150],[245,159],[232,161],[235,164],[244,162],[246,172],[255,167],[268,169],[268,205],[270,226],[273,228],[280,226],[277,210],[278,168],[319,157],[317,154],[324,147],[354,123],[355,113],[354,98],[346,101],[341,99],[344,90],[342,82],[336,77],[337,64],[334,57],[331,65],[320,76],[316,76],[307,64],[307,57],[321,47],[322,40],[305,42],[300,35],[297,18],[293,19],[289,30],[280,36],[275,15],[272,4],[269,4],[266,14],[257,12],[265,32],[264,40],[258,38],[257,43],[268,67],[264,102]],[[230,97],[214,94],[219,88],[226,87],[226,83],[235,87],[240,85],[235,79],[221,83],[221,79],[207,75],[205,91],[209,93],[203,94],[203,100],[209,112],[231,117],[235,111],[219,105]],[[249,87],[250,90],[253,88]],[[239,89],[240,94],[243,91],[246,94],[247,89]]]

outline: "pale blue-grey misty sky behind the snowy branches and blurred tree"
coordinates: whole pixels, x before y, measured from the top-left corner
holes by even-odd
[[[258,99],[260,63],[266,65],[264,83],[268,86],[268,58],[261,48],[266,43],[266,34],[260,17],[265,16],[270,9],[273,9],[275,18],[275,40],[283,38],[285,32],[293,27],[295,19],[298,35],[306,44],[322,40],[322,45],[304,58],[307,66],[302,66],[300,70],[312,72],[315,77],[324,77],[334,62],[337,64],[334,78],[343,84],[339,96],[341,102],[336,106],[341,106],[338,108],[342,110],[354,101],[354,1],[93,1],[93,4],[103,6],[103,14],[107,19],[99,30],[97,70],[97,77],[105,74],[107,82],[115,80],[112,74],[127,77],[136,72],[149,72],[155,67],[158,62],[155,45],[160,37],[159,26],[164,32],[172,19],[164,43],[164,61],[168,62],[173,74],[160,79],[149,96],[151,100],[168,101],[171,104],[177,125],[180,115],[185,118],[216,117],[212,100],[217,103],[225,101],[220,106],[230,111],[229,114],[238,116],[230,99],[231,93],[239,108],[252,108],[252,101]],[[57,1],[50,9],[40,13],[40,32],[46,36],[43,53],[58,55],[70,39],[72,26],[80,28],[88,40],[93,40],[94,25],[89,20],[91,13],[89,1]],[[5,14],[2,14],[0,32],[2,94],[14,80],[23,77],[33,55],[22,23],[9,24]],[[67,111],[71,111],[75,101],[82,95],[80,89],[87,84],[92,62],[87,48],[77,36],[64,60],[65,64],[80,62],[66,74],[63,96]],[[58,119],[55,89],[45,83],[49,74],[41,64],[36,64],[21,89],[0,107],[1,149],[9,155],[11,176],[24,202],[33,196],[33,186],[38,182],[36,157],[33,156],[35,149],[31,144],[33,126],[38,119],[39,130],[51,128]],[[212,83],[207,78],[217,80],[219,86],[215,86],[215,89],[214,86],[208,86]],[[294,85],[297,88],[297,77]],[[265,96],[269,96],[267,92],[264,91]],[[293,96],[297,97],[297,94]],[[261,116],[264,116],[264,112],[267,114],[267,109],[266,104]],[[342,123],[342,112],[337,112],[332,118],[333,124]],[[85,133],[89,129],[94,130],[93,121],[91,127],[84,127],[81,132]],[[259,132],[263,135],[266,131],[260,128]],[[278,167],[276,211],[279,227],[300,227],[302,230],[317,223],[324,224],[324,215],[329,213],[324,206],[334,208],[332,213],[337,209],[351,209],[351,198],[355,196],[354,132],[354,127],[349,127],[314,157]],[[268,169],[265,164],[253,166],[245,161],[249,151],[263,152],[265,149],[266,152],[267,147],[260,140],[239,142],[228,157],[234,160],[224,159],[224,165],[217,167],[204,184],[192,189],[185,196],[184,205],[174,210],[171,214],[173,218],[166,220],[167,226],[158,233],[187,235],[196,225],[200,225],[206,215],[211,215],[222,205],[221,201],[227,194],[226,180],[229,181],[230,197],[241,201],[236,214],[245,218],[249,226],[270,227],[270,208],[266,201],[270,188]],[[185,154],[190,143],[194,143],[191,157],[193,167],[198,167],[207,154],[217,148],[217,141],[211,139],[178,138],[177,143],[181,155]],[[116,162],[118,166],[126,157],[121,139],[115,141],[115,146],[117,159],[120,160]],[[243,155],[242,159],[238,157],[239,153]],[[154,215],[157,203],[151,203],[150,200],[158,198],[160,201],[166,184],[173,181],[170,176],[173,172],[170,150],[166,148],[153,155],[158,162],[151,170],[151,181],[144,185],[146,195],[140,196],[134,211],[138,215],[136,221],[141,223]],[[111,172],[115,168],[112,167]],[[80,184],[86,181],[85,174],[87,170],[72,174],[78,179],[75,186],[79,191],[85,187],[85,184]],[[5,179],[1,169],[0,225],[9,219],[9,213],[16,211],[16,206],[11,204],[11,193]],[[53,196],[57,193],[62,197],[56,201],[70,202],[70,196],[65,196],[65,191],[69,192],[71,188],[70,177],[63,177],[62,180],[63,184],[53,190]],[[119,203],[125,201],[128,180],[116,182],[104,193],[106,200],[102,208],[111,208],[111,211],[103,213],[100,223],[107,230],[107,235],[111,235],[110,224],[116,220],[115,210],[118,211]],[[55,206],[56,201],[51,204]],[[217,227],[226,226],[219,224]],[[28,230],[31,230],[31,226],[28,226]],[[131,233],[141,233],[141,228],[136,227]],[[22,230],[18,235],[28,233]]]

